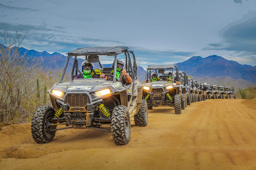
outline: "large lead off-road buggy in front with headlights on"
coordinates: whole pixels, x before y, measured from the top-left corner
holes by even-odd
[[[125,54],[125,69],[133,81],[127,85],[122,85],[116,79],[117,56],[123,53]],[[130,118],[134,117],[136,126],[148,124],[148,107],[146,101],[142,100],[143,86],[137,80],[134,52],[124,46],[83,47],[67,54],[60,82],[55,83],[48,91],[52,107],[41,106],[33,113],[31,122],[33,139],[37,143],[48,143],[58,130],[91,128],[111,131],[117,145],[126,145],[130,140]],[[99,55],[113,56],[113,67],[102,67]],[[73,58],[71,80],[63,82],[71,57]],[[78,68],[78,57],[83,57],[90,63],[98,63],[100,68],[93,71],[98,77],[102,73],[106,75],[107,72],[113,70],[113,75],[109,75],[113,79],[73,80],[78,72],[82,75]],[[57,129],[57,125],[67,127]]]

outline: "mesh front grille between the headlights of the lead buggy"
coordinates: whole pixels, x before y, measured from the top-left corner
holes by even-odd
[[[69,112],[86,111],[85,106],[88,103],[86,94],[68,94],[67,104],[70,106]]]

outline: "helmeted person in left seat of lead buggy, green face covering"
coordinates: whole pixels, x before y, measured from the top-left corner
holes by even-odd
[[[82,63],[82,72],[83,75],[81,76],[81,74],[78,74],[75,79],[88,79],[88,78],[99,78],[96,75],[92,75],[93,72],[93,64],[89,63],[87,60],[84,60]]]

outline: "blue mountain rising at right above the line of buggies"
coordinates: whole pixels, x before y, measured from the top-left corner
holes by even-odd
[[[230,76],[234,79],[256,82],[256,66],[241,65],[236,61],[227,60],[217,55],[205,58],[194,56],[181,63],[176,63],[176,65],[179,70],[187,72],[190,76]]]

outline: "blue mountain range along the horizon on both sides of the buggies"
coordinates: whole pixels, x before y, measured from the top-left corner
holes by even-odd
[[[36,50],[27,50],[23,47],[19,48],[19,54],[38,60],[45,69],[63,68],[67,59],[65,55],[57,52],[50,54],[46,51],[38,52]],[[70,60],[72,61],[73,58]],[[78,60],[78,65],[80,66],[83,59]],[[72,67],[73,62],[69,63],[68,69]],[[189,76],[197,78],[201,82],[209,79],[224,80],[226,76],[230,77],[229,79],[232,81],[241,82],[242,80],[246,80],[246,84],[256,82],[256,66],[241,65],[236,61],[227,60],[217,55],[210,55],[205,58],[193,56],[186,61],[176,63],[176,65],[178,66],[179,70],[185,71]],[[111,64],[103,66],[111,67]],[[94,68],[99,68],[99,65],[94,64]],[[141,82],[144,81],[145,74],[146,71],[141,66],[138,66],[137,75]]]

